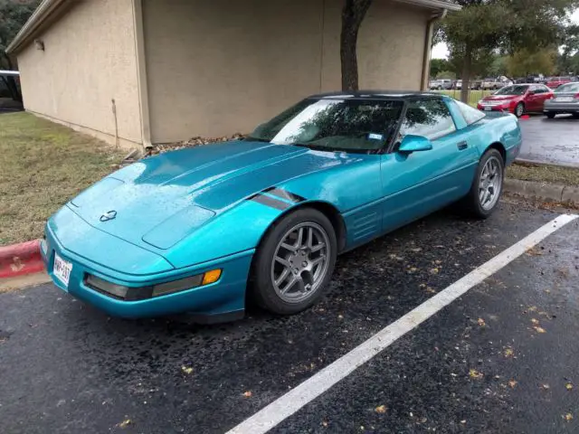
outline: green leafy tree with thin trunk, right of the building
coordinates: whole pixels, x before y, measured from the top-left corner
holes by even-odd
[[[451,54],[460,61],[463,101],[468,100],[468,83],[477,62],[498,51],[514,54],[552,46],[560,41],[567,14],[579,5],[578,0],[455,1],[462,10],[447,16],[442,32]]]

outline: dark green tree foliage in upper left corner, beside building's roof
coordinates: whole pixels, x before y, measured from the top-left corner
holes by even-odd
[[[6,54],[8,44],[33,13],[40,0],[0,0],[0,70],[14,70],[14,61]],[[2,77],[13,99],[22,100],[14,77]]]

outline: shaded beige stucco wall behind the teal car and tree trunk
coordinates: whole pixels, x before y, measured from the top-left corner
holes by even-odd
[[[340,0],[143,0],[154,143],[249,132],[341,87]],[[358,39],[360,86],[419,90],[426,10],[376,0]]]

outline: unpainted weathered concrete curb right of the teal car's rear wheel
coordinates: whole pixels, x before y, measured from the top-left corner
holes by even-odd
[[[505,192],[519,196],[579,206],[579,187],[562,184],[538,183],[520,179],[505,179]]]

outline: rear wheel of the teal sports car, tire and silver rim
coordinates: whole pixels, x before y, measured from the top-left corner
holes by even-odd
[[[505,162],[497,149],[490,148],[480,158],[477,175],[470,186],[470,192],[463,200],[467,211],[476,217],[486,219],[495,211],[503,191]]]

